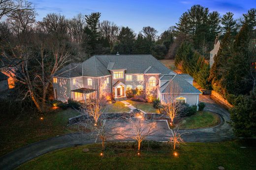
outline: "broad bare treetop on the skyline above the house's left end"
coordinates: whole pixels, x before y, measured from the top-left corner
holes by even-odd
[[[65,19],[64,15],[50,13],[43,18],[43,21],[38,22],[38,25],[45,33],[54,32],[58,34],[66,34],[68,21]]]

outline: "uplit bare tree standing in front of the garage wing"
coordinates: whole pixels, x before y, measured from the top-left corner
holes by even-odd
[[[177,83],[170,81],[166,89],[168,91],[164,94],[162,111],[169,116],[171,120],[170,125],[172,126],[174,118],[178,116],[178,113],[183,110],[184,106],[177,101],[177,98],[180,96],[180,86]]]

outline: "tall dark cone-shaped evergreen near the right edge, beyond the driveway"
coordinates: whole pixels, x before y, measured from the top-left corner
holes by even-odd
[[[250,79],[249,27],[244,24],[235,37],[233,53],[226,62],[222,86],[228,94],[247,94],[253,87]]]

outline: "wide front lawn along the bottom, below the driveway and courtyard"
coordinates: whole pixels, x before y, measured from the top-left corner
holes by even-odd
[[[253,170],[256,167],[255,147],[243,142],[193,142],[176,149],[164,143],[142,145],[137,156],[134,143],[107,143],[104,158],[99,156],[100,144],[56,150],[29,161],[18,170]],[[253,145],[253,144],[252,144]],[[89,148],[89,152],[83,152]]]

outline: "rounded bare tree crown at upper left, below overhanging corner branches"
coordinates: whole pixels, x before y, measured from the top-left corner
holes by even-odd
[[[34,10],[19,10],[12,12],[7,19],[10,28],[16,34],[28,32],[35,23]]]

